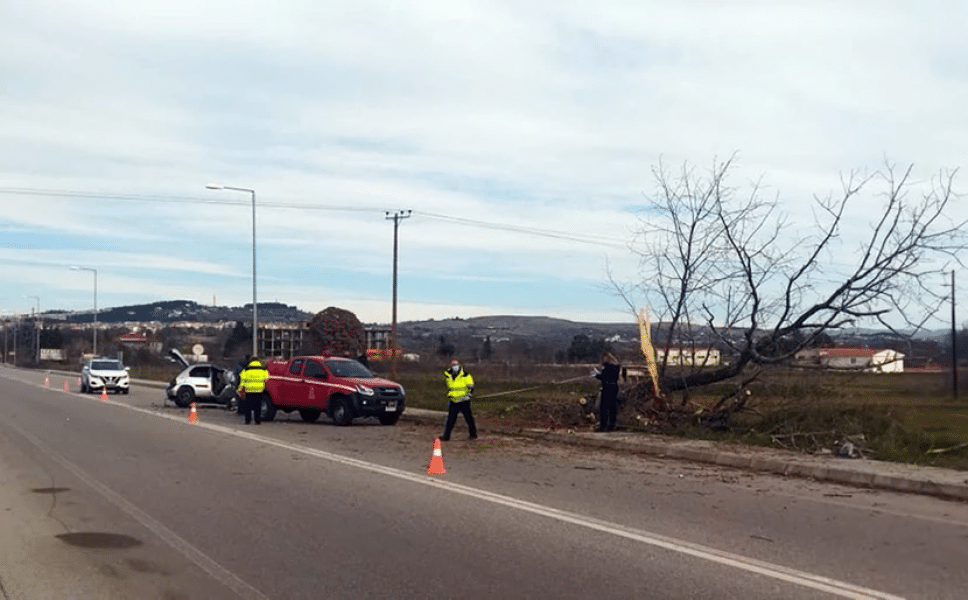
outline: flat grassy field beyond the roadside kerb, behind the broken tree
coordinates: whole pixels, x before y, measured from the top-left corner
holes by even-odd
[[[474,407],[482,422],[506,426],[591,428],[579,399],[593,396],[597,380],[591,367],[468,365],[477,383]],[[173,367],[156,367],[132,375],[168,380]],[[389,366],[375,365],[389,377]],[[575,380],[576,381],[570,381]],[[961,380],[965,381],[966,377]],[[416,408],[446,410],[443,367],[401,364],[397,380]],[[968,381],[965,381],[968,383]],[[693,391],[688,399],[696,410],[711,406],[735,384],[718,384]],[[858,439],[865,456],[968,470],[968,390],[952,399],[950,373],[891,374],[829,373],[777,369],[749,387],[749,410],[734,415],[730,431],[714,432],[697,425],[663,429],[668,435],[719,439],[745,444],[783,447],[804,452],[829,447],[835,440]],[[674,402],[681,401],[674,396]],[[640,426],[636,414],[624,407],[619,424]],[[948,450],[941,453],[932,450]]]

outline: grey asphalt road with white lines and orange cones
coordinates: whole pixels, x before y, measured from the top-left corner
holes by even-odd
[[[931,598],[968,505],[406,420],[244,426],[0,369],[6,598]]]

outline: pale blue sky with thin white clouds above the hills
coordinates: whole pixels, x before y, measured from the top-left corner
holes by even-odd
[[[190,299],[624,321],[651,169],[791,212],[968,157],[968,4],[0,3],[0,312]],[[873,202],[873,200],[871,200]],[[961,210],[964,210],[961,208]],[[939,282],[940,284],[941,282]]]

